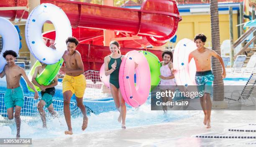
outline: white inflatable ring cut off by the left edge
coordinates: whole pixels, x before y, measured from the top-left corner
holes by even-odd
[[[12,22],[3,17],[0,17],[0,35],[3,38],[3,50],[0,55],[0,72],[2,72],[6,64],[3,57],[3,52],[6,50],[13,50],[18,55],[20,48],[20,37]]]

